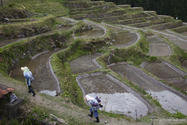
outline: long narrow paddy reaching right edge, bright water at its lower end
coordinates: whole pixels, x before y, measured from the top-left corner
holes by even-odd
[[[143,75],[143,73],[139,72],[136,68],[127,64],[115,64],[110,66],[110,68],[114,72],[126,77],[128,80],[131,80],[139,87],[144,88],[153,98],[159,101],[165,110],[168,110],[170,113],[176,113],[178,110],[187,114],[187,102],[184,99],[168,91],[165,86],[159,84],[152,78]],[[165,70],[167,71],[167,69]]]

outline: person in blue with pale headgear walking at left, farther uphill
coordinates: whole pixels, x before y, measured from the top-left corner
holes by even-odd
[[[29,93],[33,93],[33,95],[32,96],[35,96],[36,94],[35,94],[35,92],[34,92],[34,90],[32,89],[32,87],[31,87],[31,83],[32,83],[32,81],[33,81],[33,76],[32,76],[32,72],[31,71],[29,71],[29,68],[28,67],[21,67],[21,70],[23,71],[23,76],[25,77],[25,79],[26,79],[26,82],[27,82],[27,86],[28,86],[28,88],[29,88]]]

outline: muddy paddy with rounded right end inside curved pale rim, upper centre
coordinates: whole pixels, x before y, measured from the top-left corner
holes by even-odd
[[[138,39],[135,33],[116,32],[111,35],[115,47],[127,47],[133,45]]]

